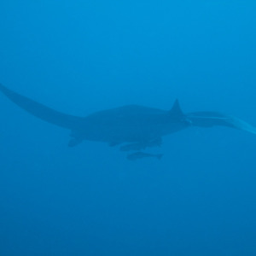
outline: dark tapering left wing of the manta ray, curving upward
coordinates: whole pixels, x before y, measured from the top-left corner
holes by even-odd
[[[26,112],[31,113],[50,124],[58,125],[70,130],[76,130],[76,128],[83,122],[83,118],[55,111],[54,109],[35,102],[26,96],[21,96],[13,90],[9,90],[7,87],[3,86],[3,84],[0,84],[0,91],[2,91],[10,101],[26,110]]]

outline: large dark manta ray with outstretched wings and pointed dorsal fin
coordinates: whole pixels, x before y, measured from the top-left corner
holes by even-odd
[[[253,125],[224,113],[183,113],[177,100],[170,110],[126,105],[79,117],[46,107],[26,96],[21,96],[3,84],[0,84],[0,91],[10,101],[38,119],[70,130],[69,147],[83,141],[94,141],[108,143],[111,147],[119,145],[121,151],[141,151],[160,146],[162,137],[192,126],[220,125],[256,134]],[[135,158],[136,155],[137,153],[134,156],[130,155],[130,158]]]

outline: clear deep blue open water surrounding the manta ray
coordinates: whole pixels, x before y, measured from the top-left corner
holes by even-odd
[[[137,103],[256,125],[255,1],[2,1],[0,81],[84,116]],[[0,95],[0,255],[256,255],[256,137],[193,128],[125,160]]]

